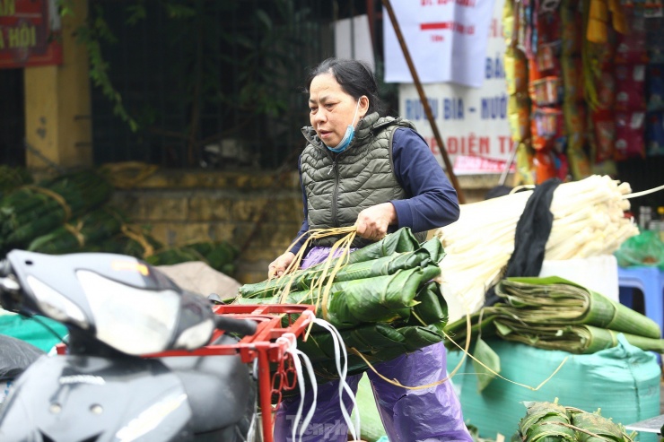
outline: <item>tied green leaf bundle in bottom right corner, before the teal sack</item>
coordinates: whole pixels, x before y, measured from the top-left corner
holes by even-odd
[[[526,406],[528,411],[515,435],[523,442],[633,442],[636,435],[628,435],[622,424],[601,416],[599,411],[591,413],[564,407],[557,399],[553,403],[532,402]]]

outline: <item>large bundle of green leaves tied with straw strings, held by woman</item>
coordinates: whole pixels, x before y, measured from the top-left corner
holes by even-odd
[[[447,305],[440,285],[444,256],[440,241],[420,244],[409,229],[336,258],[337,272],[326,270],[336,259],[289,273],[276,280],[240,287],[238,304],[311,304],[316,316],[334,325],[349,351],[348,373],[365,370],[406,351],[443,339]],[[346,262],[347,261],[347,262]],[[314,325],[298,348],[309,356],[320,380],[338,377],[333,339]]]

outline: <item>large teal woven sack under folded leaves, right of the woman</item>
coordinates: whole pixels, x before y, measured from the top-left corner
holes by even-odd
[[[501,433],[511,438],[525,412],[524,402],[554,402],[581,410],[601,408],[604,417],[625,425],[660,415],[660,366],[654,353],[642,351],[618,337],[616,347],[594,354],[537,349],[518,342],[486,339],[501,360],[500,375],[537,391],[496,377],[477,391],[476,370],[466,358],[452,377],[467,423],[481,438]],[[461,351],[448,352],[448,371],[456,368]],[[561,364],[562,367],[561,367]],[[640,435],[641,442],[656,442],[655,435]]]

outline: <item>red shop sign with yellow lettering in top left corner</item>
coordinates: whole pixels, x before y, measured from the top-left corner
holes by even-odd
[[[62,63],[60,17],[55,3],[0,0],[0,69]]]

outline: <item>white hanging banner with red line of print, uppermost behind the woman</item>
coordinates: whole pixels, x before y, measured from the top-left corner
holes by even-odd
[[[420,82],[480,87],[494,0],[392,0]],[[383,8],[385,82],[413,82]]]

